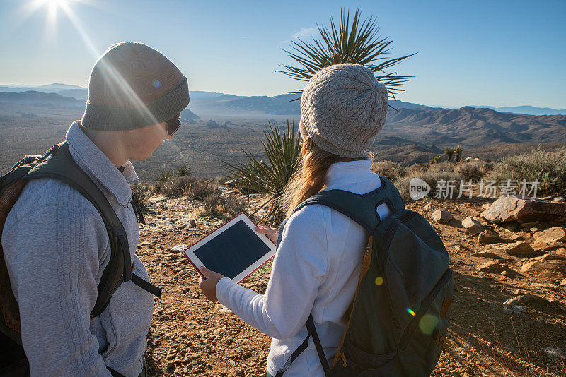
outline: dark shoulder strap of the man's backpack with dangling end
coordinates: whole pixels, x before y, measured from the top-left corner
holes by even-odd
[[[124,226],[122,222],[120,222],[120,219],[118,219],[104,193],[100,191],[100,188],[96,186],[92,179],[83,172],[83,169],[76,164],[71,156],[67,142],[56,145],[56,150],[52,152],[50,158],[35,165],[35,167],[23,177],[23,179],[37,178],[58,179],[65,184],[69,184],[69,186],[76,189],[76,191],[79,191],[81,195],[92,203],[98,213],[100,213],[100,217],[102,217],[106,231],[108,232],[108,237],[110,237],[110,261],[100,279],[98,297],[93,311],[91,312],[91,316],[96,317],[104,311],[110,302],[112,294],[122,282],[132,280],[132,282],[139,285],[141,288],[148,290],[152,294],[161,296],[161,289],[145,282],[141,277],[134,277]]]

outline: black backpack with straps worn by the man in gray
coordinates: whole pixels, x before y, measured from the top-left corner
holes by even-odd
[[[91,319],[99,316],[110,303],[112,294],[122,282],[131,280],[147,292],[161,297],[161,289],[132,273],[132,261],[126,231],[100,188],[76,164],[67,142],[54,145],[45,155],[28,155],[12,167],[10,172],[0,177],[0,241],[6,217],[27,181],[37,178],[53,178],[79,191],[90,201],[102,217],[108,237],[110,237],[110,261],[106,265],[98,284],[96,304],[91,311]],[[144,222],[139,205],[132,201],[139,221]],[[0,243],[1,250],[1,243]],[[114,372],[112,372],[114,373]],[[25,376],[29,374],[21,342],[21,323],[18,302],[13,295],[10,277],[0,252],[0,375]]]

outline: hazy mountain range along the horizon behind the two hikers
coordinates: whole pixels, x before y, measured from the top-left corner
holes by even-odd
[[[56,92],[0,92],[0,104],[72,109],[78,114],[85,100],[61,95],[61,92],[85,90],[70,85],[47,85],[46,90]],[[21,89],[21,88],[16,88]],[[236,124],[265,124],[269,119],[284,123],[287,119],[298,123],[300,118],[299,95],[285,94],[275,97],[245,97],[213,92],[190,92],[191,101],[181,113],[183,121],[203,122],[204,125],[228,127]],[[294,101],[295,100],[295,101]],[[428,107],[410,102],[391,101],[386,126],[379,133],[375,147],[401,147],[412,145],[415,152],[437,152],[439,146],[465,145],[480,147],[497,143],[566,143],[566,115],[525,115],[498,112],[487,107],[461,107],[446,109]],[[33,114],[27,107],[19,112]],[[207,123],[208,121],[208,123]],[[415,147],[416,145],[416,147]]]

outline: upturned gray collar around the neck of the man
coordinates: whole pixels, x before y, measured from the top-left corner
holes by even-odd
[[[79,121],[74,121],[71,124],[69,130],[67,130],[66,138],[71,155],[81,169],[115,196],[120,205],[128,205],[132,201],[132,189],[129,187],[129,183],[139,180],[132,162],[128,160],[124,164],[124,172],[121,173],[92,140],[83,133]]]

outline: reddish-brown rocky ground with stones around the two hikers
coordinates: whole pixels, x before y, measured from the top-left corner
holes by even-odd
[[[260,199],[253,197],[251,204]],[[565,218],[498,225],[480,217],[490,203],[473,198],[407,204],[437,229],[455,273],[451,347],[433,376],[566,376]],[[141,225],[139,257],[154,284],[163,287],[149,333],[149,374],[265,376],[270,339],[205,299],[197,272],[183,256],[183,245],[221,223],[198,217],[199,207],[198,201],[153,196],[147,224]],[[434,214],[444,217],[438,222],[431,218],[437,209],[447,211]],[[262,268],[242,284],[261,293],[269,275]]]

